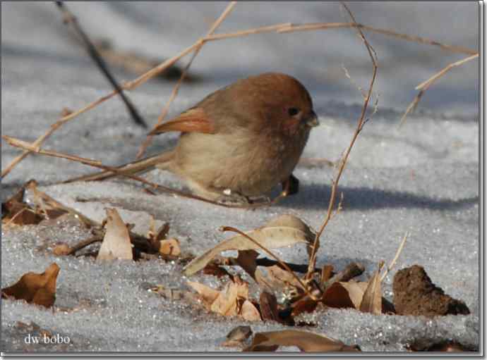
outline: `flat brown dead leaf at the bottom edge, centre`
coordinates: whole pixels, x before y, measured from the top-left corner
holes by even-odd
[[[358,352],[358,347],[345,345],[330,337],[298,330],[256,333],[250,347],[244,352],[273,352],[279,346],[299,347],[303,352]]]

